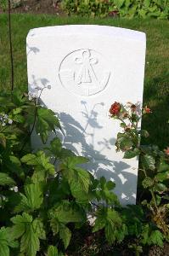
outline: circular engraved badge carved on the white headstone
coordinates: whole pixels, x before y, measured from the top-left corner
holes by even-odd
[[[93,49],[77,49],[66,55],[59,66],[59,79],[65,89],[80,96],[103,91],[109,83],[110,70],[103,55]]]

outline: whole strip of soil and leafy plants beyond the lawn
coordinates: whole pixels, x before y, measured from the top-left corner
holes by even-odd
[[[0,0],[1,9],[7,0]],[[169,18],[168,0],[11,0],[12,8],[22,12],[65,13],[82,16]]]

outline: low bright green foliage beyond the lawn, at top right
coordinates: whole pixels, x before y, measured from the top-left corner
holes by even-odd
[[[63,0],[69,15],[169,18],[167,0]]]

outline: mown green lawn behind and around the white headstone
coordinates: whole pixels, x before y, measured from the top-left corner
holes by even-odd
[[[169,21],[113,20],[81,17],[59,18],[53,15],[12,15],[14,41],[14,84],[27,88],[25,38],[28,31],[38,26],[65,24],[99,24],[126,27],[147,34],[147,55],[144,81],[144,104],[153,113],[144,118],[143,127],[150,133],[149,143],[161,148],[169,146]],[[10,87],[8,57],[8,18],[0,15],[0,88]]]

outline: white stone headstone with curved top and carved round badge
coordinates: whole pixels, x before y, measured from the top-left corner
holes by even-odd
[[[138,160],[115,152],[120,129],[109,109],[142,102],[145,49],[144,32],[113,26],[42,27],[27,36],[29,90],[51,85],[41,100],[59,114],[64,146],[89,158],[96,177],[115,181],[123,205],[136,201]]]

